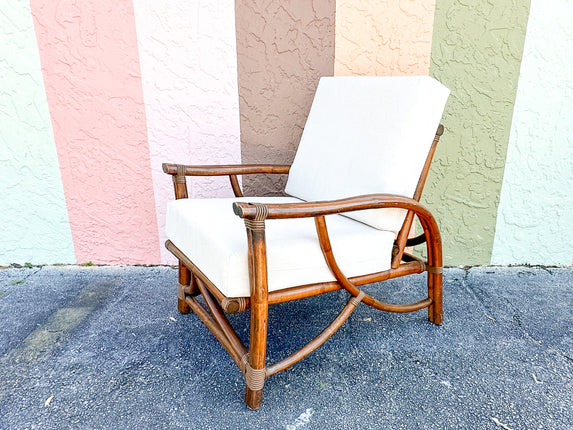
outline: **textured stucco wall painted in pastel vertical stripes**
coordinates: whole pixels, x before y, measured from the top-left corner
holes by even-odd
[[[320,76],[427,73],[446,264],[570,265],[570,3],[0,2],[0,265],[172,263],[161,162],[290,163]]]

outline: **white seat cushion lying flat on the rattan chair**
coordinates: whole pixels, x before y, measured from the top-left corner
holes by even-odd
[[[227,297],[250,296],[244,221],[234,201],[293,203],[292,197],[180,199],[167,206],[167,237]],[[394,233],[340,215],[326,217],[332,249],[347,277],[390,268]],[[313,218],[267,220],[269,291],[333,281]]]

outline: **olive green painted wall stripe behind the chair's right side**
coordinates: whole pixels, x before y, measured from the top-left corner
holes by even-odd
[[[438,0],[431,74],[452,90],[422,201],[446,264],[489,264],[529,0]]]

